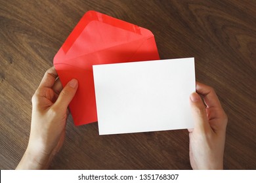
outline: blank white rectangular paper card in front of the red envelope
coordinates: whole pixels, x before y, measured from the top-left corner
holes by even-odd
[[[194,58],[93,65],[100,135],[194,127]]]

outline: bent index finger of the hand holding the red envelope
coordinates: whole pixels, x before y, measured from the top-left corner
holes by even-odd
[[[46,71],[45,75],[43,76],[43,79],[39,84],[39,88],[41,87],[51,88],[55,82],[56,77],[58,77],[56,70],[54,69],[54,67],[51,67]]]

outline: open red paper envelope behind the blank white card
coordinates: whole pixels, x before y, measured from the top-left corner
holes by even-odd
[[[97,121],[92,65],[160,59],[148,29],[95,11],[85,13],[53,59],[62,85],[78,89],[70,103],[75,125]]]

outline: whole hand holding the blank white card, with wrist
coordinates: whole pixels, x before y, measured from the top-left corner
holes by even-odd
[[[190,95],[195,123],[194,129],[188,129],[190,165],[192,169],[223,169],[228,117],[213,88],[196,82],[196,92]]]

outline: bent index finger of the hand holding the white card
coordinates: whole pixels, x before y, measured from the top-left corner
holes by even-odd
[[[207,107],[221,107],[217,94],[210,86],[196,82],[196,92],[203,95],[203,99]]]

